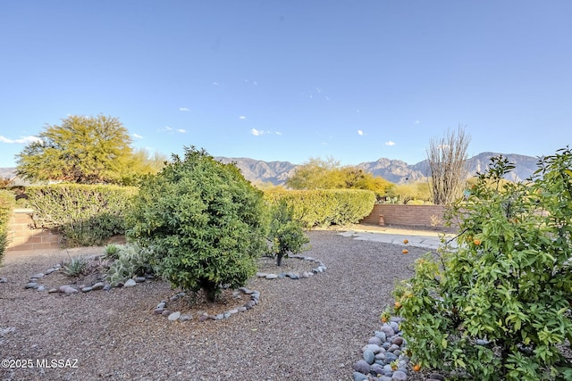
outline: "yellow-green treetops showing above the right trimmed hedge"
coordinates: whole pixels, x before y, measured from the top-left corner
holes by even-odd
[[[341,166],[330,157],[327,160],[311,158],[296,169],[286,186],[292,189],[364,189],[384,195],[391,183],[356,166]]]

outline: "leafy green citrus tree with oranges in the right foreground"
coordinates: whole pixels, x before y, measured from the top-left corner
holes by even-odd
[[[412,359],[481,380],[572,379],[572,152],[543,158],[527,183],[493,158],[451,208],[458,248],[416,261],[396,287]],[[568,352],[568,360],[564,353]]]

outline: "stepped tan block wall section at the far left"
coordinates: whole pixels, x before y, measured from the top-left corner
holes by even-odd
[[[59,249],[60,236],[55,229],[36,228],[31,209],[15,209],[8,222],[6,252]]]

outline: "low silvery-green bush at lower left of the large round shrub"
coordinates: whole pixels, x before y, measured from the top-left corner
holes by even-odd
[[[144,276],[155,272],[151,264],[153,252],[139,246],[139,244],[126,244],[116,246],[117,259],[107,271],[107,279],[112,286],[124,283],[134,276]]]

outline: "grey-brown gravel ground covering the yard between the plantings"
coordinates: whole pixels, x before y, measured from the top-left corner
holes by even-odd
[[[332,231],[308,236],[312,248],[304,254],[324,261],[327,271],[300,280],[252,279],[248,287],[260,291],[259,305],[205,322],[154,315],[157,302],[178,291],[158,280],[69,297],[24,289],[32,274],[101,248],[8,253],[0,268],[0,277],[8,278],[0,284],[0,333],[15,329],[0,335],[0,359],[73,360],[65,365],[77,368],[0,369],[0,378],[350,380],[361,348],[380,327],[380,313],[392,303],[395,280],[411,277],[412,262],[426,250],[411,247],[403,255],[400,246]],[[285,265],[309,270],[308,263],[288,259]]]

